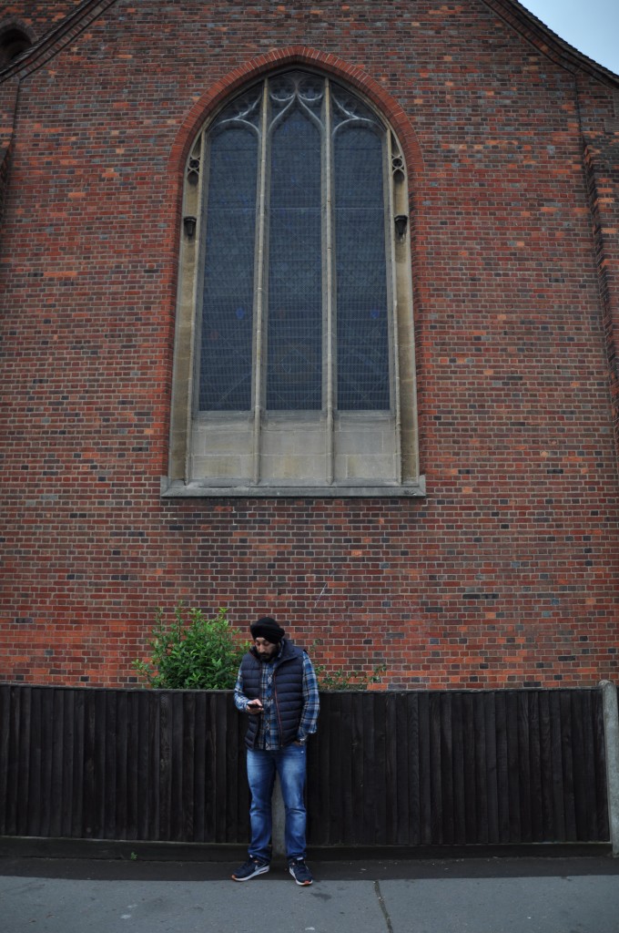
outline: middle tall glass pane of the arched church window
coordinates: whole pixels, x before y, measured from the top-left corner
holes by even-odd
[[[272,411],[322,407],[321,131],[312,118],[319,101],[311,87],[295,89],[293,97],[285,87],[278,91],[282,116],[270,145],[267,408]]]

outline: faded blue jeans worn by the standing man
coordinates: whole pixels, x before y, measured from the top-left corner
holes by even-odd
[[[250,822],[252,842],[249,854],[270,861],[271,796],[275,775],[280,775],[286,815],[284,841],[288,858],[305,858],[306,775],[305,745],[285,745],[272,751],[247,749],[247,779],[252,793]]]

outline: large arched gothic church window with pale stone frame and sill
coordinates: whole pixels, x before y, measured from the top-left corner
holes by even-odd
[[[407,210],[392,131],[328,77],[199,133],[167,494],[421,494]]]

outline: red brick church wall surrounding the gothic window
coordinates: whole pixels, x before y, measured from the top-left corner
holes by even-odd
[[[131,683],[179,598],[271,613],[334,667],[384,661],[385,687],[616,678],[614,335],[583,134],[616,131],[617,82],[577,81],[493,6],[119,0],[21,71],[0,678]],[[347,68],[407,146],[425,499],[159,496],[183,156],[282,49]]]

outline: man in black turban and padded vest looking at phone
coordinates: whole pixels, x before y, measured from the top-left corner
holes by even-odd
[[[296,884],[311,884],[305,863],[306,743],[316,731],[318,683],[308,654],[296,648],[269,616],[251,627],[254,645],[243,657],[234,689],[234,703],[249,717],[247,779],[252,794],[252,840],[249,859],[232,875],[249,881],[270,866],[271,795],[280,775],[285,809],[285,846]]]

